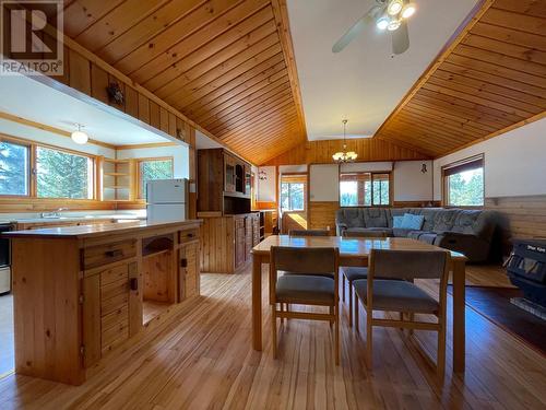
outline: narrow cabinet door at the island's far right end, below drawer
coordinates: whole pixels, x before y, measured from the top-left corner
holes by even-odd
[[[179,249],[178,300],[195,296],[201,293],[199,270],[199,243],[192,242]]]

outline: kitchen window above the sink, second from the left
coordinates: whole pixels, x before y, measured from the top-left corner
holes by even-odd
[[[51,148],[36,148],[38,198],[93,198],[93,160]]]

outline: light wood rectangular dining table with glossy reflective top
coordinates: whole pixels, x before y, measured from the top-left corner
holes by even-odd
[[[340,266],[366,267],[371,249],[443,250],[451,254],[452,317],[453,317],[453,372],[465,367],[465,265],[466,257],[458,251],[443,249],[405,237],[344,237],[344,236],[289,236],[270,235],[252,250],[252,347],[262,350],[262,265],[269,263],[272,246],[300,248],[335,247],[340,251]]]

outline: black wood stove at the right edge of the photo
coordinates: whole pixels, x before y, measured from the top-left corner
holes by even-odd
[[[526,302],[546,312],[546,239],[513,239],[513,250],[507,261],[510,281],[523,291]],[[514,303],[520,307],[521,302]],[[525,301],[523,301],[525,304]],[[527,304],[529,307],[529,304]],[[543,316],[538,312],[532,312]]]

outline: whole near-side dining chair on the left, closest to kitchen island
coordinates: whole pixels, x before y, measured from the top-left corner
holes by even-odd
[[[277,355],[277,318],[325,320],[331,328],[334,326],[335,364],[340,364],[339,259],[337,248],[271,247],[269,279],[273,358]],[[277,271],[292,273],[278,277]],[[334,279],[324,277],[327,273],[333,274]],[[325,306],[329,312],[288,312],[282,308],[283,303]]]

